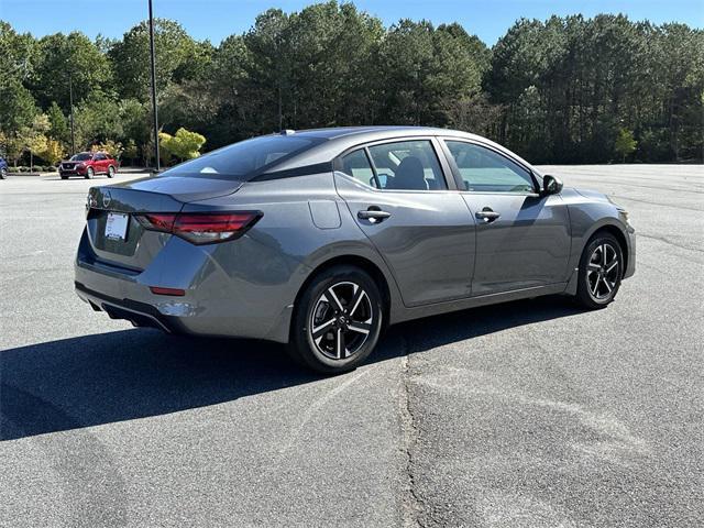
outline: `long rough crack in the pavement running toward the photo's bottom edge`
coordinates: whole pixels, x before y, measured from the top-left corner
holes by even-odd
[[[403,513],[403,526],[409,527],[422,527],[421,514],[424,513],[424,501],[420,498],[417,492],[417,483],[415,476],[415,460],[414,449],[418,440],[418,429],[416,426],[416,418],[414,416],[413,407],[410,404],[410,356],[408,351],[408,343],[402,337],[403,355],[400,358],[402,367],[402,387],[399,398],[400,410],[400,426],[402,426],[402,450],[405,460],[405,483],[402,499],[402,513]]]

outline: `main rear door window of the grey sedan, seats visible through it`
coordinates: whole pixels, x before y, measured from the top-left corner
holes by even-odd
[[[428,140],[400,141],[370,146],[382,189],[447,189],[438,156]]]

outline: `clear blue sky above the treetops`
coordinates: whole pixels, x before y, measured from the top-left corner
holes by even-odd
[[[153,0],[154,15],[178,21],[197,40],[220,43],[243,33],[268,8],[299,11],[312,0]],[[490,46],[520,18],[624,13],[631,20],[684,22],[704,28],[704,0],[356,0],[391,25],[402,18],[459,22]],[[0,20],[35,36],[74,30],[90,37],[121,37],[147,16],[147,0],[0,0]]]

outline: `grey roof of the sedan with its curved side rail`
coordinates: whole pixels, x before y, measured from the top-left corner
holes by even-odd
[[[530,167],[530,164],[522,160],[514,152],[508,151],[502,145],[494,143],[481,135],[462,132],[459,130],[440,129],[433,127],[408,127],[408,125],[374,125],[374,127],[336,127],[329,129],[310,129],[300,131],[284,131],[282,135],[289,138],[311,138],[322,141],[316,146],[308,148],[300,154],[293,156],[278,165],[270,167],[270,172],[288,170],[307,165],[317,165],[328,163],[340,155],[342,152],[374,141],[384,141],[414,136],[443,136],[471,140],[491,146],[509,157],[513,157],[524,165]]]

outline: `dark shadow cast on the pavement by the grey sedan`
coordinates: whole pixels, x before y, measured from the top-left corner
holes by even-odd
[[[548,297],[403,323],[369,362],[579,311]],[[0,440],[193,409],[321,377],[295,365],[279,344],[150,329],[9,349],[0,352]]]

